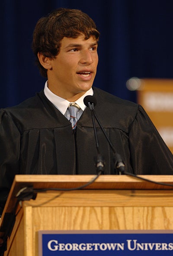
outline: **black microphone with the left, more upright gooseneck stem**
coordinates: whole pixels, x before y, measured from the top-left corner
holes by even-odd
[[[104,163],[103,157],[101,156],[101,154],[99,152],[99,140],[97,137],[96,123],[95,123],[94,114],[93,114],[94,105],[96,105],[97,101],[96,101],[96,98],[93,99],[91,95],[88,95],[83,99],[83,102],[86,105],[86,107],[89,107],[91,110],[91,117],[92,117],[92,121],[93,121],[94,136],[95,136],[95,140],[96,140],[96,149],[97,149],[97,156],[95,159],[97,173],[99,173],[99,172],[103,173],[105,163]]]

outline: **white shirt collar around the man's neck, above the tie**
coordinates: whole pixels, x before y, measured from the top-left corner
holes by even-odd
[[[69,101],[65,100],[61,97],[59,97],[58,95],[54,94],[49,88],[48,88],[48,81],[45,82],[45,88],[44,88],[44,94],[45,96],[48,98],[48,100],[51,101],[52,104],[54,104],[54,106],[56,108],[58,108],[59,111],[61,111],[61,113],[64,115],[64,113],[66,112],[68,105],[69,105]],[[90,88],[90,90],[86,91],[85,94],[83,94],[78,100],[76,100],[75,102],[78,104],[78,106],[84,111],[86,106],[83,103],[83,99],[85,96],[87,95],[93,95],[93,89]]]

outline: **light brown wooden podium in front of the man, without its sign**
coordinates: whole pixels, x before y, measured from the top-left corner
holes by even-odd
[[[77,188],[93,177],[16,175],[0,220],[2,236],[15,210],[4,256],[38,256],[39,230],[173,230],[173,187],[126,175],[102,175],[82,190],[48,190],[16,203],[21,188]],[[171,175],[141,177],[173,184]]]

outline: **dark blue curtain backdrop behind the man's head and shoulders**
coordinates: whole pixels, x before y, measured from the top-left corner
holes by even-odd
[[[126,88],[129,78],[173,78],[172,0],[3,0],[0,5],[0,107],[44,87],[34,64],[32,32],[40,17],[58,7],[83,10],[101,32],[95,86],[136,101]]]

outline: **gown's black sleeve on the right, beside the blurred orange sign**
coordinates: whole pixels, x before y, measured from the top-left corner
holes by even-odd
[[[140,105],[130,128],[129,145],[136,174],[173,174],[173,154]]]

